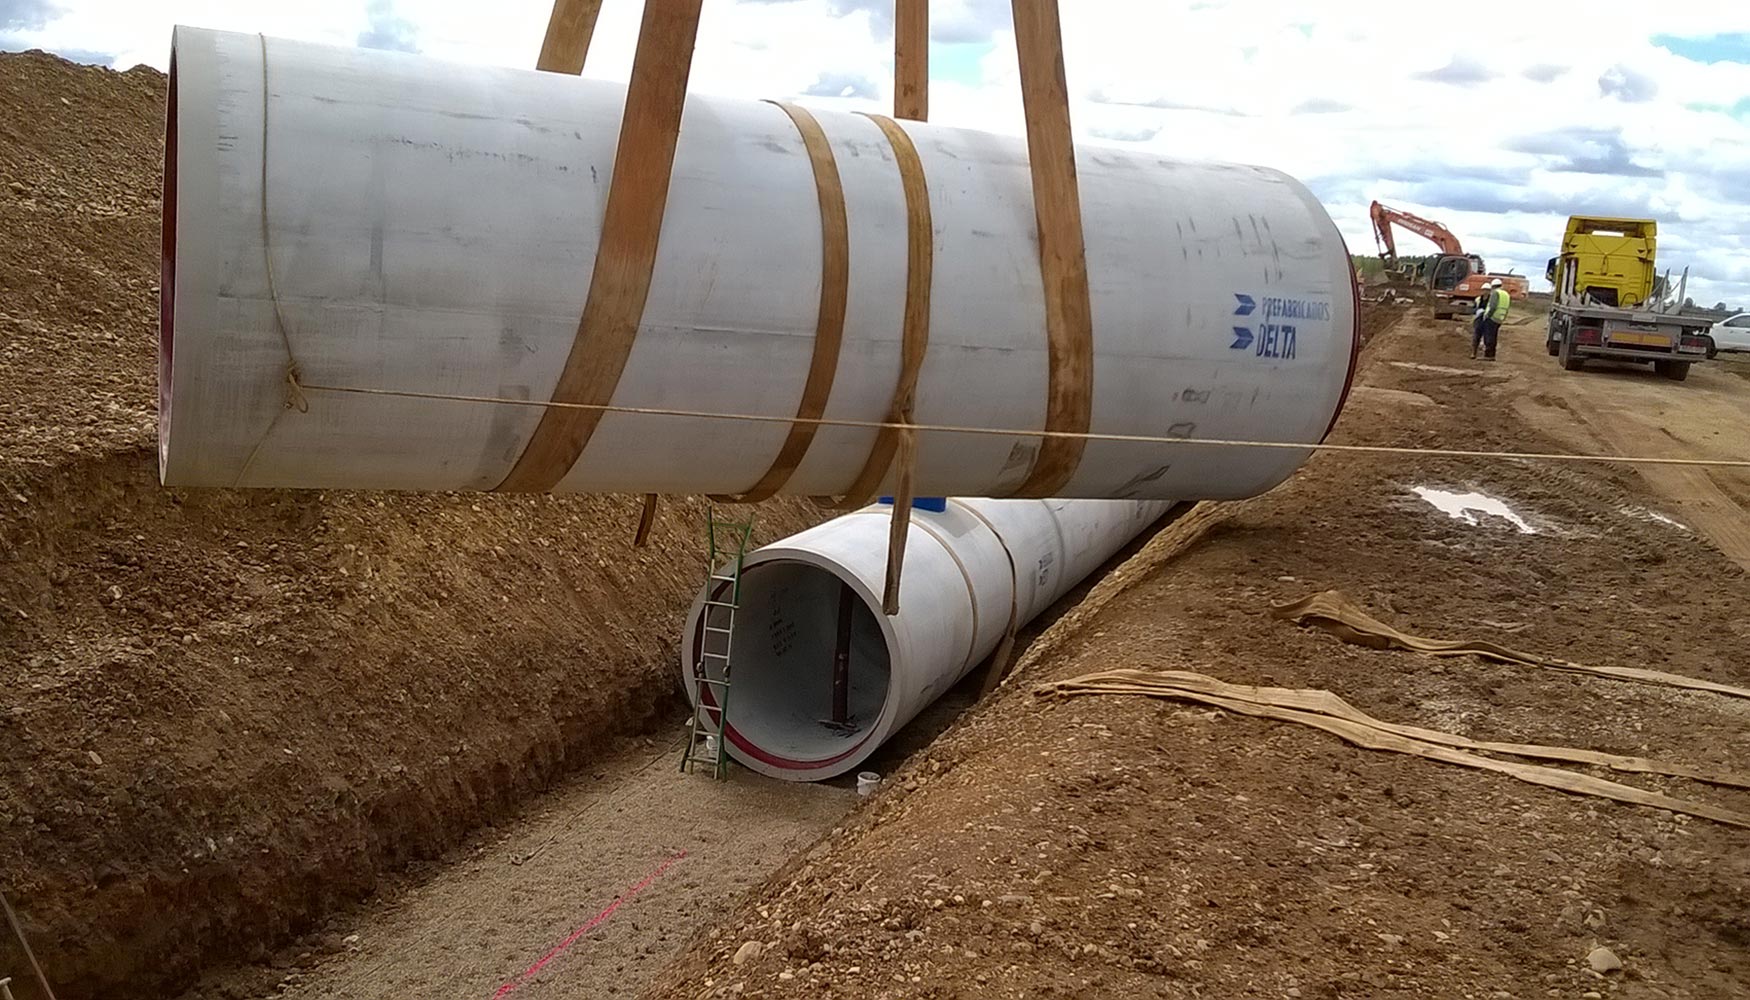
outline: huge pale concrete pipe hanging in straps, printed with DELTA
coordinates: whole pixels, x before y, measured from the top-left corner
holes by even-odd
[[[588,294],[623,102],[621,86],[556,74],[178,28],[163,480],[506,483],[542,408],[480,399],[553,398]],[[1024,140],[920,123],[894,138],[859,114],[814,119],[810,140],[780,105],[688,100],[654,284],[611,396],[777,422],[607,413],[581,457],[553,469],[553,489],[749,490],[777,464],[812,366],[831,375],[826,420],[884,420],[901,378],[910,273],[903,145],[915,145],[928,184],[914,215],[928,207],[933,219],[920,228],[934,264],[915,420],[1045,427],[1050,364]],[[1349,257],[1320,203],[1274,170],[1132,147],[1083,147],[1078,168],[1092,431],[1318,441],[1356,343]],[[844,245],[822,228],[833,180]],[[830,256],[845,268],[824,268]],[[845,275],[836,350],[817,338],[828,271]],[[285,378],[292,363],[312,385],[476,399],[299,398]],[[873,440],[870,427],[821,427],[780,490],[847,492]],[[1012,494],[1038,443],[926,433],[917,492]],[[1057,492],[1242,497],[1304,457],[1094,441]]]

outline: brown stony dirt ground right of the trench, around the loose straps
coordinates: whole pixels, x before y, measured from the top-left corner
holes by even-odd
[[[1370,391],[1335,440],[1558,450],[1510,408],[1561,377],[1540,347],[1482,366],[1463,359],[1463,331],[1414,317],[1370,349]],[[1505,497],[1531,532],[1447,517],[1416,485]],[[1743,685],[1745,573],[1638,517],[1647,503],[1636,475],[1600,466],[1316,457],[1220,506],[1169,562],[1144,546],[990,704],[646,995],[1741,996],[1743,830],[1204,706],[1032,694],[1102,669],[1190,669],[1334,690],[1477,739],[1741,772],[1750,709],[1734,699],[1362,650],[1269,615],[1340,588],[1418,634]],[[1743,792],[1601,776],[1750,809]],[[1622,967],[1594,970],[1598,946]]]

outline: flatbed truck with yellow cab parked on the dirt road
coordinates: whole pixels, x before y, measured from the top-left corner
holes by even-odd
[[[1657,291],[1659,224],[1652,219],[1575,215],[1550,257],[1554,285],[1549,354],[1568,371],[1589,359],[1650,363],[1666,378],[1689,378],[1689,366],[1713,356],[1712,326],[1684,315]],[[1687,280],[1687,271],[1685,271]]]

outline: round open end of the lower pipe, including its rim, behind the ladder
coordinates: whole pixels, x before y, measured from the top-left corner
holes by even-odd
[[[710,597],[730,599],[730,583]],[[742,571],[737,604],[733,636],[714,630],[730,609],[702,604],[690,643],[693,660],[704,657],[707,676],[721,680],[723,660],[705,653],[732,641],[730,751],[754,771],[793,781],[854,771],[886,736],[877,732],[892,676],[892,637],[873,595],[828,567],[774,559]],[[844,681],[836,695],[835,678]],[[702,716],[714,722],[723,688],[705,688]]]

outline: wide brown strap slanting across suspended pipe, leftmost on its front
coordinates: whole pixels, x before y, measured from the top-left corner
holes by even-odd
[[[626,112],[602,212],[602,242],[595,273],[578,322],[565,368],[553,387],[555,403],[612,403],[614,387],[632,356],[644,319],[656,242],[668,207],[674,149],[681,138],[681,110],[693,68],[698,16],[704,0],[651,0],[644,5],[639,47],[632,58]],[[600,410],[541,413],[528,445],[499,483],[509,492],[551,490],[578,462],[602,422]]]

